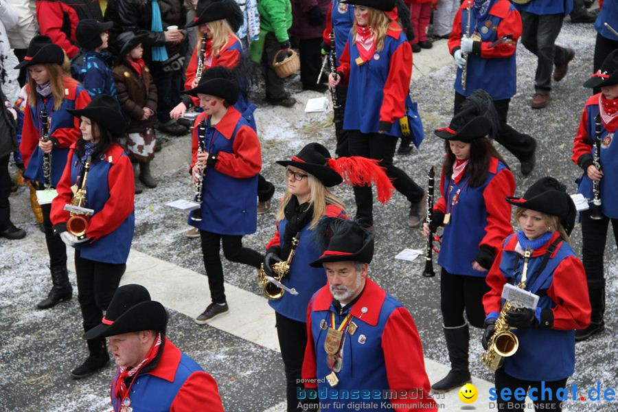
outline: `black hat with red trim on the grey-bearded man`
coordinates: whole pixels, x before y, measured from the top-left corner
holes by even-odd
[[[354,220],[323,218],[314,233],[316,242],[325,249],[310,263],[314,268],[328,262],[371,263],[374,258],[374,237]]]

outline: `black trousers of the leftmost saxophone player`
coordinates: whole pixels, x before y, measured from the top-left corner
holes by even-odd
[[[82,258],[80,251],[75,251],[75,271],[84,332],[101,323],[103,312],[107,310],[125,270],[124,263],[95,262]]]

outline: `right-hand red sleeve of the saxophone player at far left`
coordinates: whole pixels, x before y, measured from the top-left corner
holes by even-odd
[[[95,213],[88,223],[86,236],[94,240],[118,229],[135,208],[133,166],[127,156],[121,156],[117,163],[111,166],[107,185],[109,198],[103,209]]]

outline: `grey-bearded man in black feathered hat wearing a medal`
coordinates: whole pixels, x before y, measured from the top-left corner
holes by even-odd
[[[354,399],[354,393],[371,391],[379,393],[371,411],[437,411],[410,312],[367,277],[371,235],[356,222],[334,218],[317,238],[328,247],[310,265],[325,268],[328,285],[307,308],[305,387],[327,391],[320,402],[330,409],[339,393]],[[299,399],[312,396],[297,392]],[[362,402],[346,400],[348,409],[340,410],[367,409]]]

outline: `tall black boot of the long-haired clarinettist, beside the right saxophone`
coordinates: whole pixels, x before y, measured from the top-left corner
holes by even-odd
[[[468,346],[470,345],[470,328],[468,323],[455,328],[444,328],[446,348],[450,359],[450,371],[442,380],[431,385],[434,392],[446,392],[459,389],[472,382],[468,370]]]

